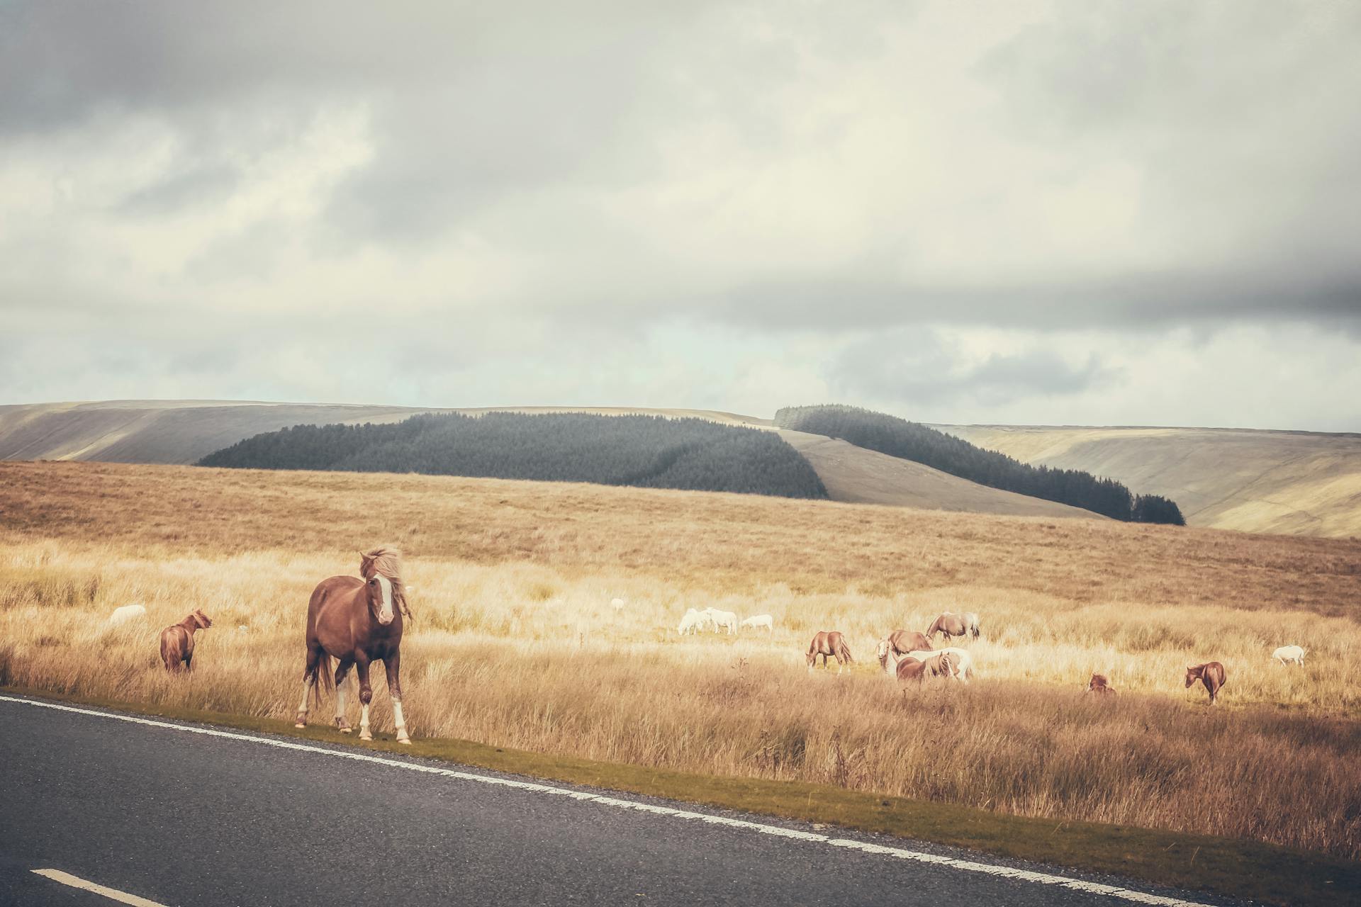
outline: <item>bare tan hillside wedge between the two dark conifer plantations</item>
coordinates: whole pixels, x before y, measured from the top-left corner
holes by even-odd
[[[1015,517],[1105,519],[1090,510],[988,488],[911,460],[856,447],[840,438],[787,428],[778,431],[804,456],[833,500]]]

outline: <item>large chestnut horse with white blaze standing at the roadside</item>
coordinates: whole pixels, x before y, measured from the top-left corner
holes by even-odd
[[[298,728],[308,725],[308,695],[321,696],[318,677],[336,691],[336,728],[350,733],[344,717],[347,674],[354,666],[359,674],[359,740],[373,740],[369,730],[369,665],[382,661],[388,673],[388,695],[392,698],[392,722],[397,729],[397,742],[410,744],[407,722],[401,715],[401,617],[411,616],[401,582],[401,552],[396,548],[374,548],[359,552],[359,575],[331,577],[312,590],[308,602],[308,662],[302,672],[302,704],[298,706]],[[331,658],[340,664],[335,679]]]

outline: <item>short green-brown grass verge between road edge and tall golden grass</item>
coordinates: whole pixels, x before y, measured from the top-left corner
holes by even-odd
[[[1361,863],[1274,844],[1172,831],[1009,816],[969,806],[883,797],[827,785],[721,778],[645,766],[615,764],[489,747],[465,740],[425,738],[399,747],[343,738],[324,725],[182,707],[142,706],[71,696],[45,689],[0,687],[14,695],[82,703],[116,711],[203,722],[393,753],[440,759],[546,781],[664,797],[749,813],[840,825],[930,840],[1015,859],[1044,862],[1206,891],[1273,904],[1354,904]]]

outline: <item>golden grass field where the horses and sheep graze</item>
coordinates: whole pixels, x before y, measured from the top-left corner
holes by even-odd
[[[392,543],[408,555],[418,737],[1361,858],[1358,543],[88,462],[0,462],[0,684],[291,718],[312,587]],[[135,602],[147,621],[106,623]],[[772,613],[776,631],[675,635],[710,604]],[[192,680],[167,677],[158,632],[195,608],[215,626]],[[900,691],[875,640],[945,609],[983,619],[977,679]],[[807,674],[818,630],[847,634],[853,670]],[[1285,643],[1309,650],[1305,668],[1270,661]],[[1214,708],[1181,685],[1206,660],[1229,674]],[[1085,696],[1093,670],[1119,696]],[[391,736],[381,672],[374,685]]]

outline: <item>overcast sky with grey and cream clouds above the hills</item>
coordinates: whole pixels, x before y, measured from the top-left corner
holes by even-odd
[[[1361,431],[1358,48],[1334,1],[0,0],[0,403]]]

